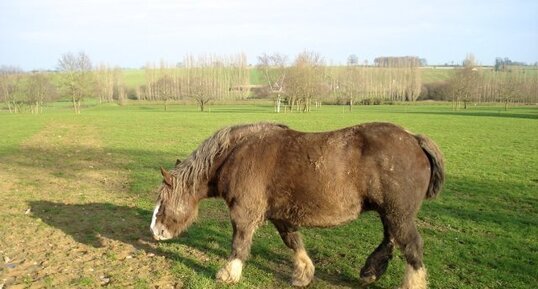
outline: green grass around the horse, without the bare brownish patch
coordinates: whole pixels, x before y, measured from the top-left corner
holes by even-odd
[[[136,197],[136,214],[149,223],[158,168],[172,167],[215,130],[230,124],[274,121],[297,130],[324,131],[369,121],[390,121],[434,139],[446,158],[447,183],[441,196],[419,213],[424,261],[431,288],[532,288],[538,284],[538,109],[499,106],[453,112],[447,105],[324,106],[311,113],[275,114],[271,106],[90,106],[75,116],[54,105],[42,115],[0,113],[0,154],[14,153],[41,128],[56,124],[89,126],[105,151],[129,160],[121,168]],[[51,160],[54,162],[55,160]],[[103,234],[105,234],[103,232]],[[358,272],[382,238],[374,213],[331,229],[303,230],[316,265],[310,288],[356,287]],[[231,226],[220,200],[202,203],[199,220],[180,237],[161,243],[172,272],[186,288],[222,288],[214,275],[229,253]],[[288,286],[291,253],[276,230],[262,226],[240,284],[232,288]],[[116,262],[115,258],[108,258]],[[121,262],[121,261],[117,261]],[[370,288],[394,288],[403,276],[397,253],[387,273]],[[87,278],[73,285],[91,286]],[[145,288],[146,281],[137,281]]]

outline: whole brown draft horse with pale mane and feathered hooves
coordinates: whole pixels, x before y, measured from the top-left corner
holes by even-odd
[[[151,221],[157,240],[170,239],[196,218],[198,203],[223,198],[233,226],[232,253],[217,280],[238,282],[256,228],[269,220],[294,255],[292,283],[306,286],[314,265],[299,227],[331,227],[375,210],[384,227],[381,244],[360,271],[379,279],[398,246],[407,261],[402,288],[426,288],[422,240],[414,223],[422,200],[444,182],[437,145],[388,123],[324,133],[259,123],[219,130],[167,172]]]

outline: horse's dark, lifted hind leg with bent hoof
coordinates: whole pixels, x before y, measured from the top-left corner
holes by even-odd
[[[386,218],[382,215],[383,222],[383,241],[366,259],[364,267],[361,269],[361,281],[364,285],[373,283],[385,273],[392,259],[392,251],[394,249],[394,239],[391,237],[390,225]]]

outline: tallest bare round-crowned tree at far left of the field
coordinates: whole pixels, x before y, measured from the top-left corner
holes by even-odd
[[[92,92],[92,63],[88,55],[79,52],[63,54],[58,60],[60,83],[64,95],[71,98],[73,110],[80,114],[80,104]]]

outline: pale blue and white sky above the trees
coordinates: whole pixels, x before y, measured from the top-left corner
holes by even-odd
[[[84,51],[94,64],[138,68],[187,55],[262,53],[327,63],[355,54],[428,64],[538,61],[536,0],[0,0],[0,65],[55,69]]]

